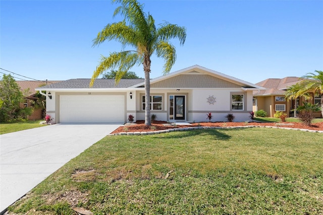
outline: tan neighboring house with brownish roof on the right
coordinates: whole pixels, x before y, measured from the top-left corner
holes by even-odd
[[[267,117],[274,117],[276,111],[282,111],[287,114],[287,117],[294,117],[295,102],[296,105],[302,105],[304,98],[297,98],[287,101],[285,97],[286,89],[298,82],[302,81],[299,77],[285,77],[279,78],[268,78],[263,80],[256,85],[265,88],[264,90],[258,90],[253,92],[253,111],[264,110],[267,113]],[[319,103],[320,97],[315,97],[313,93],[310,93],[312,99],[308,102],[312,104]],[[320,112],[314,113],[316,118],[322,117]]]

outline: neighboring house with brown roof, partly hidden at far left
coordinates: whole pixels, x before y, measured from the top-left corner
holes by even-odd
[[[28,91],[27,96],[24,99],[24,102],[20,103],[21,108],[33,107],[34,104],[32,101],[37,100],[37,97],[34,97],[36,94],[35,88],[46,85],[57,83],[60,81],[16,81],[22,93],[25,94],[25,91]],[[42,110],[41,109],[34,109],[32,115],[28,116],[28,120],[40,120],[42,119]]]

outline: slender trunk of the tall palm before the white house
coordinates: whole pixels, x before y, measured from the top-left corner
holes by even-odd
[[[145,56],[143,70],[145,72],[145,125],[151,126],[150,122],[150,58]]]

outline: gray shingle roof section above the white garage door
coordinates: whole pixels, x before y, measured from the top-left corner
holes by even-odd
[[[70,79],[39,87],[39,89],[86,89],[90,88],[90,81],[91,79]],[[96,79],[92,88],[127,88],[136,84],[144,83],[144,81],[144,79],[121,79],[118,85],[115,85],[115,79]]]

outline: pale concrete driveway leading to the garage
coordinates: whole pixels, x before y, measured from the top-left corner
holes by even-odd
[[[0,135],[0,213],[119,126],[56,124]]]

